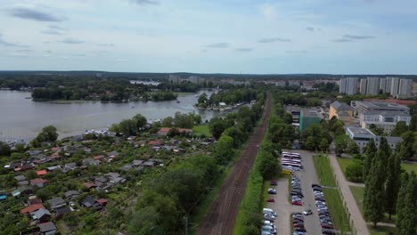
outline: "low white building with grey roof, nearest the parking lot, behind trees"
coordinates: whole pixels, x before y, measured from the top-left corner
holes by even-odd
[[[350,137],[351,140],[356,142],[360,152],[364,152],[366,145],[371,141],[371,139],[373,139],[377,148],[380,147],[380,138],[382,136],[375,135],[366,128],[347,127],[346,134]],[[395,150],[397,144],[403,141],[403,138],[401,137],[385,136],[385,138],[387,139],[389,148],[391,148],[391,150]]]

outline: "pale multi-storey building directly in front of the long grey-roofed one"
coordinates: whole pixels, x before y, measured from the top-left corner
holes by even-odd
[[[383,129],[384,133],[391,134],[399,121],[404,121],[407,126],[410,125],[411,116],[402,111],[366,111],[360,115],[359,121],[363,128],[370,128],[373,124]]]

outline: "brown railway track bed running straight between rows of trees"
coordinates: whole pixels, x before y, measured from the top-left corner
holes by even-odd
[[[271,115],[271,107],[272,98],[268,95],[261,125],[255,130],[246,149],[242,151],[238,162],[233,166],[231,173],[225,179],[225,183],[219,190],[217,198],[213,201],[207,215],[200,223],[197,234],[227,235],[233,233],[234,222],[246,189],[249,171],[257,156],[259,144],[265,135],[267,121]]]

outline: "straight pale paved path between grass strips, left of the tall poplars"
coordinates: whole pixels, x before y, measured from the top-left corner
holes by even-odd
[[[349,189],[349,184],[345,179],[345,175],[343,175],[340,169],[338,159],[334,154],[331,153],[329,154],[329,158],[331,162],[331,167],[333,168],[333,172],[334,174],[336,174],[336,180],[339,182],[340,191],[343,194],[343,198],[345,199],[347,209],[350,213],[351,218],[353,219],[357,234],[369,235],[370,233],[364,221],[364,217],[362,216],[359,207],[357,207],[356,200]]]

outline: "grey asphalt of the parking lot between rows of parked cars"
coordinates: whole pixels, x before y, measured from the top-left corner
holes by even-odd
[[[314,153],[305,150],[297,150],[297,152],[301,154],[304,170],[296,171],[294,175],[300,180],[299,184],[304,194],[303,206],[290,205],[289,182],[286,178],[281,178],[278,179],[278,185],[270,187],[276,189],[277,194],[269,195],[269,198],[273,198],[275,202],[266,203],[266,207],[272,208],[277,213],[274,225],[276,226],[277,234],[279,235],[290,234],[292,226],[292,222],[290,221],[291,213],[303,212],[307,209],[313,211],[313,215],[307,215],[304,219],[307,234],[322,234],[320,219],[317,214],[317,208],[315,207],[315,196],[311,188],[312,183],[318,182],[313,163]]]

